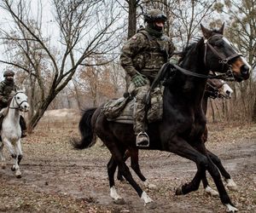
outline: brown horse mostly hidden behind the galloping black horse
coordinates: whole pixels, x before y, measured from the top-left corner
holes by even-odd
[[[230,99],[231,94],[233,90],[230,88],[230,86],[224,82],[224,80],[221,79],[207,79],[207,85],[205,89],[205,93],[202,99],[202,109],[207,114],[207,102],[209,98],[215,99],[215,98],[224,98],[224,99]],[[202,135],[202,140],[204,142],[207,141],[207,127]],[[228,187],[230,190],[236,191],[236,183],[231,179],[230,174],[224,169],[223,164],[221,163],[220,159],[214,155],[213,153],[209,152],[210,157],[212,158],[212,161],[216,166],[218,167],[218,170],[220,171],[221,175],[224,176],[224,181],[226,182],[226,187]],[[145,187],[148,188],[155,188],[156,186],[148,181],[148,179],[143,176],[140,166],[138,164],[138,148],[133,148],[132,150],[126,150],[124,161],[127,160],[127,158],[131,157],[131,168],[136,172],[137,176],[143,181],[143,184]],[[118,171],[117,179],[119,181],[124,181],[124,178],[120,171]],[[212,189],[212,187],[209,186],[209,183],[207,181],[207,178],[202,178],[203,187],[206,190],[207,193],[211,194],[212,196],[218,196],[218,192]]]

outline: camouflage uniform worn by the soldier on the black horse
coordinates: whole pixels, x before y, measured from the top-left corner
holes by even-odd
[[[153,12],[160,13],[160,10]],[[150,12],[148,12],[150,14]],[[147,21],[147,20],[146,20]],[[145,79],[143,86],[136,87],[131,81],[128,91],[136,95],[134,131],[138,135],[144,132],[145,126],[145,95],[148,93],[150,83],[160,71],[160,67],[167,62],[174,50],[172,39],[162,32],[154,30],[152,23],[145,29],[140,29],[137,34],[125,43],[121,55],[121,66],[131,79],[140,74]]]

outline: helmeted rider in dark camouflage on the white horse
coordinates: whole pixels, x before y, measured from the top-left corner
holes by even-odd
[[[3,72],[4,80],[0,83],[0,110],[2,110],[5,107],[8,107],[9,99],[11,98],[10,95],[12,91],[17,91],[19,89],[15,85],[14,77],[15,77],[15,72],[11,70]],[[1,115],[1,117],[2,116],[3,115]],[[20,115],[20,128],[21,128],[21,137],[25,137],[26,121],[21,115]]]

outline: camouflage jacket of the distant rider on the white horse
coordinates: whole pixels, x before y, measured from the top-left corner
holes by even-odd
[[[9,101],[9,95],[12,91],[17,90],[18,87],[14,82],[8,82],[7,80],[3,80],[0,83],[0,108],[7,107]]]

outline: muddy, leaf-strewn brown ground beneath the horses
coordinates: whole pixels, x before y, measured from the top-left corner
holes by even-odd
[[[125,204],[113,204],[107,148],[97,142],[77,151],[69,143],[71,137],[79,136],[78,119],[68,118],[67,123],[63,118],[44,118],[40,122],[22,142],[20,179],[10,170],[12,161],[5,147],[8,166],[0,169],[0,212],[225,212],[220,200],[208,196],[202,187],[175,196],[177,186],[195,175],[195,164],[158,151],[140,152],[143,174],[157,185],[156,190],[147,190],[157,208],[145,209],[131,186],[120,182],[116,185]],[[218,154],[239,187],[238,192],[229,191],[230,199],[240,212],[256,212],[256,125],[208,124],[208,128],[207,147]]]

